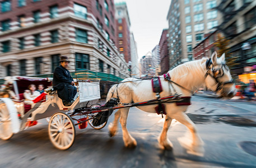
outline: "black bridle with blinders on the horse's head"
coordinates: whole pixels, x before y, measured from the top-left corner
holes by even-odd
[[[220,65],[214,65],[212,63],[211,58],[206,60],[207,71],[206,71],[205,77],[211,76],[213,79],[215,79],[216,84],[217,84],[217,88],[216,88],[215,92],[221,91],[222,88],[224,87],[224,85],[234,83],[233,79],[231,79],[230,81],[226,81],[226,82],[221,82],[218,80],[220,77],[222,77],[224,75],[223,68],[225,68],[227,71],[229,71],[229,67],[227,67],[226,63],[221,64],[221,66],[220,66]]]

